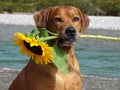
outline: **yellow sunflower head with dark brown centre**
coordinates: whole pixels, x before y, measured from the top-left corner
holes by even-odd
[[[15,45],[21,47],[20,54],[26,53],[36,64],[48,64],[53,61],[52,47],[45,42],[37,41],[35,37],[30,38],[22,33],[16,33],[15,37]]]

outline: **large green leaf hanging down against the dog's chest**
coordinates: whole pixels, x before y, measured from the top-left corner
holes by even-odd
[[[65,53],[65,51],[57,45],[57,43],[53,46],[54,50],[52,51],[52,54],[54,55],[53,63],[57,66],[58,69],[60,69],[64,73],[69,73],[67,69],[67,60],[68,56]]]

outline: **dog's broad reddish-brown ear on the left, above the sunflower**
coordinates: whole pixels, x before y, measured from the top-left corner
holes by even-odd
[[[43,9],[33,16],[37,28],[46,28],[46,23],[52,8]]]

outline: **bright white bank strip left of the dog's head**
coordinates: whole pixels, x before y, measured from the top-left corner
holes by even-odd
[[[0,14],[0,24],[34,25],[33,15]]]

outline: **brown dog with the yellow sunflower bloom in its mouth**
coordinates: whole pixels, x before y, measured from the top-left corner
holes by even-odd
[[[22,47],[20,53],[26,53],[31,59],[12,82],[9,90],[82,90],[82,77],[74,54],[74,44],[80,32],[86,34],[89,25],[87,15],[73,6],[56,6],[35,14],[34,21],[37,28],[47,28],[58,34],[59,39],[51,40],[49,47],[33,36],[15,34],[16,45]],[[53,63],[54,55],[50,52],[55,42],[65,52],[59,50],[58,53],[68,56],[65,61],[68,73],[61,71]],[[64,68],[62,66],[61,63],[60,67]]]

